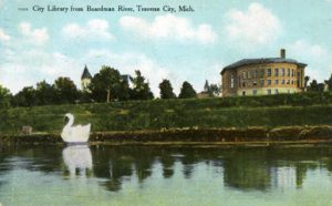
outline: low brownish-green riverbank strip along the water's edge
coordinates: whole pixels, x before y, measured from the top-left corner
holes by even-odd
[[[1,145],[63,144],[59,133],[0,135]],[[332,144],[332,126],[247,128],[173,128],[158,131],[94,132],[90,144],[274,146]]]

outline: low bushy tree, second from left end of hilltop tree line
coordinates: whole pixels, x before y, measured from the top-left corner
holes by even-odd
[[[12,99],[14,106],[34,106],[37,105],[37,92],[33,86],[25,86]]]

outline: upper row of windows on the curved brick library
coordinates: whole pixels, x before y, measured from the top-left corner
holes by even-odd
[[[252,73],[252,78],[257,78],[258,75],[260,78],[264,76],[264,71],[267,71],[267,76],[272,76],[272,69],[262,69],[262,70],[253,70],[250,71],[248,70],[247,72],[242,72],[242,79],[250,79],[251,78],[251,73]],[[273,76],[300,76],[300,72],[295,73],[295,70],[293,69],[273,69]]]

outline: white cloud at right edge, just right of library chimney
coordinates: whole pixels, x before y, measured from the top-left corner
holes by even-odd
[[[312,44],[305,40],[298,40],[289,47],[293,59],[307,63],[305,75],[319,82],[330,78],[332,73],[332,54],[322,45]]]

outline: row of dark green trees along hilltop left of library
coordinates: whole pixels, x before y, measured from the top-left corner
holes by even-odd
[[[132,86],[129,86],[132,84]],[[208,96],[216,96],[220,90],[217,84],[208,84],[205,89]],[[193,99],[197,92],[193,85],[185,81],[178,96],[173,91],[169,80],[159,84],[160,99]],[[0,107],[35,106],[50,104],[71,104],[87,102],[110,102],[127,100],[153,100],[149,83],[139,70],[134,76],[123,75],[118,70],[104,65],[96,73],[86,90],[79,90],[70,78],[58,78],[53,84],[41,81],[35,86],[24,86],[17,94],[0,85]]]

